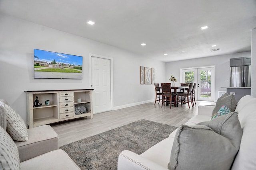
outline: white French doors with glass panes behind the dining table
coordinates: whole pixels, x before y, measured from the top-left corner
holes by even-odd
[[[182,83],[194,83],[197,87],[195,91],[196,100],[214,101],[215,99],[215,67],[202,67],[181,69]]]

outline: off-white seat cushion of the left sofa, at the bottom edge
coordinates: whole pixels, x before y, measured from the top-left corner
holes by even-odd
[[[21,170],[80,170],[64,150],[47,152],[20,163]]]

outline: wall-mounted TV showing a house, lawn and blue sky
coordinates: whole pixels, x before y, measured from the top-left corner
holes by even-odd
[[[83,57],[34,49],[34,78],[82,79]]]

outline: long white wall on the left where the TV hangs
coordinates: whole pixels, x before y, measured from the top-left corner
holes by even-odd
[[[90,53],[112,57],[114,60],[114,107],[136,105],[154,99],[154,85],[140,84],[140,66],[155,68],[156,82],[163,82],[165,78],[165,63],[117,47],[3,14],[0,14],[0,25],[0,99],[6,99],[24,120],[24,90],[91,88]],[[33,49],[83,56],[83,79],[34,79]]]

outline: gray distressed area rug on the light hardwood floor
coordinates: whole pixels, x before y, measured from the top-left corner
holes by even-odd
[[[60,147],[82,170],[116,170],[122,150],[142,154],[177,127],[148,120],[94,135]]]

